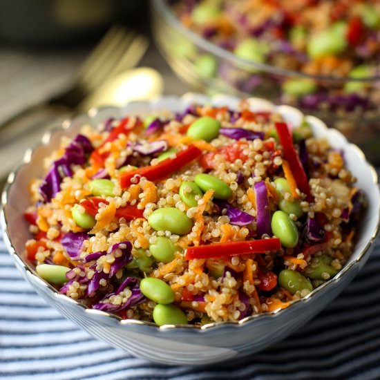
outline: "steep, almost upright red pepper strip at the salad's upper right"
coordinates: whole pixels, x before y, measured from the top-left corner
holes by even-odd
[[[281,145],[283,146],[284,156],[292,169],[294,180],[296,180],[298,189],[306,194],[307,202],[312,202],[313,198],[310,193],[309,181],[307,180],[307,175],[303,169],[301,160],[294,149],[292,133],[290,133],[286,123],[276,122],[275,126],[278,137],[280,137]]]

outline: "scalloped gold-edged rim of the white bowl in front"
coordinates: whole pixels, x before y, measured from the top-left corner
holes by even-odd
[[[318,126],[319,129],[323,130],[323,132],[327,133],[327,135],[334,135],[334,137],[339,138],[341,142],[344,142],[345,144],[345,149],[352,149],[356,151],[358,157],[361,159],[362,163],[367,165],[368,170],[370,170],[371,175],[372,175],[372,180],[373,180],[373,185],[374,189],[377,189],[377,224],[374,230],[372,231],[372,234],[370,236],[370,240],[368,243],[363,247],[363,249],[357,254],[356,258],[352,260],[351,263],[348,265],[345,265],[341,271],[336,274],[332,279],[321,285],[320,287],[317,287],[314,289],[310,294],[307,294],[307,296],[298,299],[296,301],[292,301],[292,304],[285,309],[278,309],[274,310],[273,312],[265,312],[262,314],[256,314],[253,316],[247,316],[241,321],[225,321],[225,322],[214,322],[214,323],[209,323],[207,325],[202,325],[202,326],[196,326],[196,325],[163,325],[163,326],[158,326],[155,325],[155,323],[151,322],[146,322],[146,321],[140,321],[140,320],[135,320],[135,319],[121,319],[119,316],[116,316],[115,314],[111,314],[108,312],[103,312],[99,310],[93,310],[89,309],[79,301],[75,301],[73,298],[69,298],[68,296],[64,294],[60,294],[57,289],[55,289],[52,285],[49,283],[46,283],[46,281],[42,280],[35,272],[32,267],[23,261],[21,258],[21,255],[17,254],[17,249],[12,243],[10,233],[8,231],[8,218],[6,215],[6,205],[7,205],[7,200],[8,200],[8,194],[10,193],[12,189],[12,184],[15,182],[15,179],[17,178],[17,174],[19,173],[20,169],[25,167],[26,165],[30,164],[32,162],[32,157],[33,153],[35,150],[40,147],[40,146],[48,146],[49,142],[51,141],[50,138],[55,135],[56,132],[59,131],[64,131],[67,129],[70,129],[71,126],[75,124],[78,120],[80,120],[81,117],[86,116],[86,120],[93,120],[99,113],[102,113],[102,111],[112,111],[115,113],[116,111],[122,113],[123,115],[131,113],[135,114],[135,112],[130,111],[129,108],[141,108],[141,106],[144,106],[146,108],[146,111],[153,111],[152,107],[155,106],[155,104],[165,104],[165,102],[177,102],[177,106],[180,108],[184,108],[184,106],[187,106],[188,104],[191,104],[193,102],[199,102],[200,104],[213,104],[213,105],[220,105],[220,104],[227,104],[229,105],[230,108],[234,109],[238,102],[240,101],[239,97],[235,97],[232,95],[214,95],[213,97],[207,97],[206,95],[198,94],[198,93],[187,93],[185,95],[182,95],[182,97],[173,97],[173,96],[163,96],[163,97],[158,97],[155,100],[152,100],[151,102],[130,102],[129,104],[126,104],[126,106],[123,107],[115,107],[115,106],[105,106],[102,108],[91,108],[87,114],[78,114],[75,115],[73,118],[70,120],[64,121],[59,128],[53,129],[51,131],[48,131],[45,133],[45,135],[41,139],[41,143],[36,144],[34,149],[28,149],[24,155],[23,161],[17,166],[15,171],[12,171],[8,175],[8,181],[6,182],[6,185],[3,189],[3,192],[1,194],[1,214],[0,214],[0,225],[3,229],[3,238],[4,242],[6,243],[6,247],[8,251],[10,252],[11,256],[15,259],[15,262],[17,264],[17,267],[20,271],[23,271],[24,276],[27,277],[28,281],[32,283],[33,281],[39,282],[40,285],[43,285],[44,287],[48,287],[50,291],[53,293],[53,296],[55,298],[58,298],[62,302],[66,303],[74,303],[75,305],[79,306],[80,308],[77,310],[82,310],[85,314],[90,314],[92,316],[101,316],[101,317],[106,317],[109,322],[117,323],[118,325],[121,325],[123,327],[129,326],[129,325],[144,325],[148,326],[148,328],[153,328],[156,330],[160,330],[161,332],[167,332],[171,330],[179,330],[179,329],[186,329],[188,331],[193,331],[196,333],[207,333],[210,330],[215,330],[222,328],[223,326],[229,325],[229,326],[234,326],[234,327],[241,327],[245,326],[250,323],[254,323],[256,319],[272,319],[276,318],[278,315],[282,315],[287,313],[289,308],[292,308],[293,305],[296,303],[308,303],[310,300],[312,300],[313,296],[319,292],[323,292],[323,290],[326,287],[330,287],[333,283],[337,283],[340,281],[340,279],[345,276],[345,274],[348,274],[348,272],[352,271],[355,266],[359,265],[361,260],[368,254],[370,251],[370,248],[372,247],[372,244],[377,238],[377,235],[379,234],[379,229],[380,229],[380,194],[379,194],[379,187],[378,187],[378,178],[377,178],[377,173],[374,170],[374,168],[368,164],[368,162],[365,161],[365,157],[363,152],[354,144],[350,144],[346,138],[339,132],[334,129],[328,129],[327,126],[321,122],[318,118],[310,115],[306,115],[306,119],[312,123],[314,126]],[[296,117],[303,117],[303,113],[299,111],[298,109],[292,107],[292,106],[275,106],[272,104],[272,102],[269,102],[265,99],[261,98],[256,98],[256,97],[249,97],[247,98],[247,101],[249,102],[251,108],[256,109],[271,109],[272,111],[275,110],[279,113],[283,113],[283,115],[295,115]],[[164,106],[163,106],[164,107]],[[160,108],[163,111],[165,111],[163,108]],[[280,112],[281,111],[281,112]],[[137,112],[138,113],[138,112]],[[286,117],[285,117],[286,118]],[[33,284],[32,284],[33,285]],[[89,316],[90,316],[89,315]]]

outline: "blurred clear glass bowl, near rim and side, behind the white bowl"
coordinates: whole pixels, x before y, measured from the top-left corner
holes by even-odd
[[[185,27],[170,8],[170,1],[151,1],[153,37],[175,73],[198,91],[257,96],[274,104],[289,104],[339,129],[359,145],[368,160],[379,164],[380,73],[355,79],[323,77],[247,61]],[[318,86],[318,93],[287,95],[282,86],[302,79]],[[343,89],[362,88],[344,93]]]

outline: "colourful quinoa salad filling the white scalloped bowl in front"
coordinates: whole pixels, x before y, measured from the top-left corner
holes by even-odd
[[[37,274],[157,325],[289,307],[345,265],[365,207],[343,151],[245,100],[84,125],[44,165],[24,214]]]

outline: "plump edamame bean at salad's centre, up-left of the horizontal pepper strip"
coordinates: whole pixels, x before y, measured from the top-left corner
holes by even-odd
[[[171,231],[176,235],[189,234],[193,227],[193,220],[175,207],[164,207],[153,211],[148,217],[148,222],[156,231]]]

